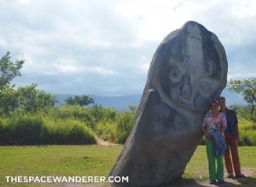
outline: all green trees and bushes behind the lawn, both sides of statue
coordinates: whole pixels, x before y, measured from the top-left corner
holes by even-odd
[[[137,106],[130,106],[130,111],[116,111],[95,104],[88,95],[68,97],[65,105],[56,105],[56,96],[38,89],[37,83],[19,88],[11,83],[21,76],[24,63],[25,60],[12,62],[9,52],[0,59],[0,144],[91,144],[96,136],[125,143]],[[253,122],[253,126],[242,122],[245,125],[240,144],[254,145],[256,78],[231,79],[228,88],[241,94],[247,103],[230,108],[241,120]],[[85,107],[88,105],[92,106]]]

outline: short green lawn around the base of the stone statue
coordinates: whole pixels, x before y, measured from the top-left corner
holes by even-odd
[[[7,184],[6,176],[108,176],[122,145],[1,146],[0,186],[37,186]],[[239,148],[242,168],[256,168],[254,146]],[[206,147],[198,146],[183,178],[207,179]],[[256,176],[253,176],[254,181]],[[250,182],[250,181],[249,181]]]

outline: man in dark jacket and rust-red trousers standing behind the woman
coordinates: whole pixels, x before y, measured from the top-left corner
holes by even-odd
[[[225,167],[227,169],[228,178],[233,178],[233,171],[235,170],[236,178],[244,178],[245,175],[241,173],[240,159],[238,155],[238,141],[239,131],[238,131],[238,120],[236,116],[236,111],[231,110],[226,107],[226,99],[220,97],[218,99],[220,111],[223,112],[227,119],[227,127],[224,131],[225,142],[228,149],[224,153]],[[232,160],[230,158],[230,151],[232,155]],[[233,166],[232,166],[233,162]],[[233,170],[234,167],[234,170]]]

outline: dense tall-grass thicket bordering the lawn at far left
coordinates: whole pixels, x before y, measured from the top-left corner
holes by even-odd
[[[0,118],[0,144],[95,144],[96,138],[83,122],[40,115]]]

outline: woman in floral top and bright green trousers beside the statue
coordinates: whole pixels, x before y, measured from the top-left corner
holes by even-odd
[[[215,184],[216,179],[218,180],[218,183],[224,183],[224,150],[222,150],[220,154],[216,155],[214,152],[214,139],[222,138],[222,143],[224,143],[223,134],[226,124],[227,121],[224,113],[218,112],[218,100],[212,100],[210,103],[210,112],[207,113],[202,124],[202,131],[206,136],[210,184]],[[215,132],[218,132],[218,138],[216,136],[213,138],[213,133]],[[215,160],[217,160],[217,170]]]

